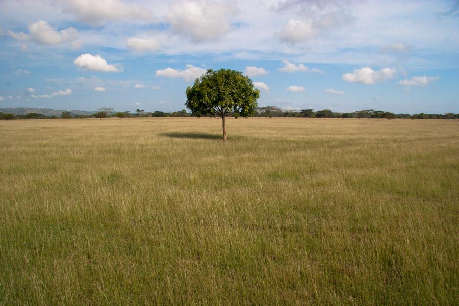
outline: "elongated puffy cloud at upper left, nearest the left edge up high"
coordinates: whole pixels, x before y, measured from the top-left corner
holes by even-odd
[[[40,45],[70,43],[70,45],[75,49],[81,47],[81,40],[78,39],[77,30],[70,27],[57,31],[43,20],[30,24],[29,33],[13,32],[9,30],[7,34],[16,40],[33,41]]]

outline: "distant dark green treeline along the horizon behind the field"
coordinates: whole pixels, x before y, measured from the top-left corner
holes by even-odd
[[[176,112],[145,112],[144,110],[137,109],[135,113],[129,111],[115,112],[112,108],[101,108],[99,112],[91,115],[73,114],[69,111],[64,111],[60,116],[51,115],[47,116],[40,113],[27,113],[27,114],[10,114],[0,112],[0,119],[13,120],[13,119],[78,119],[78,118],[135,118],[135,117],[194,117],[193,113],[188,113],[186,110]],[[236,113],[234,117],[238,118]],[[258,107],[252,114],[252,117],[299,117],[299,118],[375,118],[375,119],[459,119],[459,114],[446,113],[446,114],[395,114],[386,111],[375,110],[361,110],[352,113],[333,112],[331,110],[314,111],[313,109],[305,109],[299,111],[286,111],[276,106]]]

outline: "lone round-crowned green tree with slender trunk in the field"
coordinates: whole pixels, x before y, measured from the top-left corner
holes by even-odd
[[[239,113],[240,116],[250,116],[257,107],[260,91],[256,89],[248,77],[242,72],[212,69],[199,79],[193,86],[187,88],[185,106],[198,117],[209,115],[221,118],[223,140],[226,141],[225,117]]]

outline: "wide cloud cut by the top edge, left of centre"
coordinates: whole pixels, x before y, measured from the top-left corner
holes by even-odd
[[[120,0],[71,0],[67,4],[67,11],[91,25],[116,20],[150,22],[154,19],[150,10]]]

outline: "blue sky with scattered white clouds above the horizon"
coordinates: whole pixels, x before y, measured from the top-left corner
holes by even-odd
[[[0,0],[0,108],[181,110],[221,68],[259,106],[459,113],[459,1]]]

